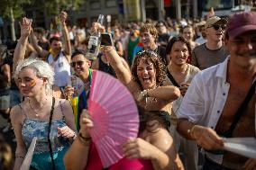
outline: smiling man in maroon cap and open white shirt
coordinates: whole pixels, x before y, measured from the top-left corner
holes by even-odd
[[[254,170],[256,159],[224,151],[222,137],[255,137],[256,13],[234,13],[225,43],[230,57],[194,77],[177,129],[206,150],[203,170]]]

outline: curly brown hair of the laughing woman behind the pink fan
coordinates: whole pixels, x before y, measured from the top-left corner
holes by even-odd
[[[156,69],[156,84],[157,86],[163,85],[166,77],[166,67],[160,56],[151,50],[142,50],[134,58],[134,63],[132,67],[133,80],[142,87],[142,84],[137,75],[137,67],[142,59],[144,59],[147,63],[153,64],[154,68]]]

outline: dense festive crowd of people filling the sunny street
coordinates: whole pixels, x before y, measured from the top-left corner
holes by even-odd
[[[94,22],[90,30],[67,20],[61,12],[61,31],[46,33],[23,18],[17,43],[1,46],[0,112],[10,121],[4,132],[14,130],[15,170],[33,137],[31,169],[104,169],[87,111],[93,70],[120,80],[140,114],[138,137],[123,143],[125,157],[106,169],[256,169],[256,159],[225,151],[222,138],[256,137],[255,12],[109,28]],[[96,31],[111,33],[113,46],[92,60],[87,45]],[[84,84],[77,108],[71,75]],[[0,169],[12,168],[4,155],[10,148],[0,148]]]

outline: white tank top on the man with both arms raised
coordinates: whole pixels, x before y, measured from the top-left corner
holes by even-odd
[[[47,59],[48,63],[54,69],[54,85],[59,87],[67,86],[70,72],[70,65],[68,59],[63,55],[63,52],[59,53],[59,58],[54,61],[52,54],[49,55]]]

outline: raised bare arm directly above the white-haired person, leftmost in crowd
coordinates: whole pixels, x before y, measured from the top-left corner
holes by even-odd
[[[20,22],[21,37],[20,37],[20,40],[18,41],[16,48],[14,50],[13,72],[15,72],[18,63],[23,61],[23,59],[25,57],[25,52],[26,52],[27,43],[28,43],[28,37],[32,30],[31,24],[32,24],[32,21],[27,18],[23,18],[22,21]]]

